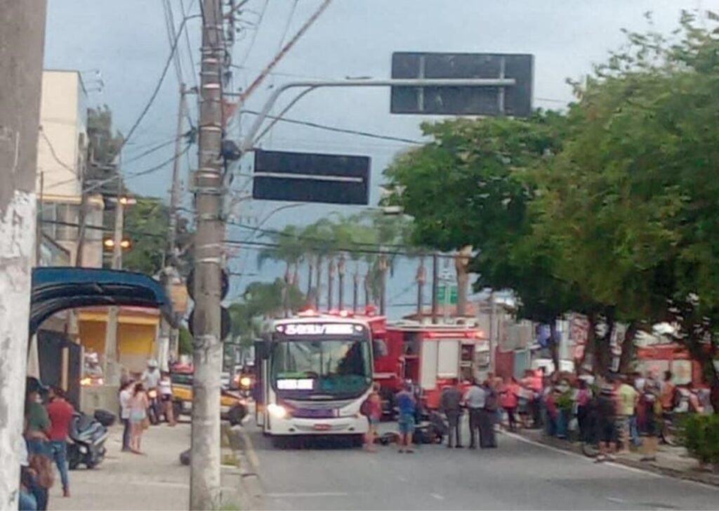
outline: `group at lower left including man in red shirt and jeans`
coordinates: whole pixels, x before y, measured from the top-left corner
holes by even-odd
[[[70,497],[68,435],[75,409],[62,389],[47,391],[30,386],[24,414],[24,442],[20,447],[20,510],[46,510],[50,488],[55,482],[53,463],[58,467],[63,496]]]

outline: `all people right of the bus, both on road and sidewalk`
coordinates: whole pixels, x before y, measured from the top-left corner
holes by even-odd
[[[450,381],[444,386],[439,410],[429,422],[439,422],[438,438],[446,436],[448,448],[462,448],[462,417],[469,416],[469,448],[496,448],[496,430],[544,428],[546,435],[574,438],[597,446],[597,461],[614,453],[638,449],[644,461],[656,458],[660,441],[670,443],[677,414],[707,412],[708,395],[687,385],[674,384],[674,375],[639,372],[595,379],[590,375],[526,371],[524,377],[484,381]],[[395,395],[398,417],[397,443],[400,453],[413,453],[423,400],[411,382]],[[362,405],[370,423],[366,448],[375,450],[377,425],[383,416],[380,389],[375,385]],[[425,414],[426,415],[426,414]],[[425,417],[427,418],[427,417]]]

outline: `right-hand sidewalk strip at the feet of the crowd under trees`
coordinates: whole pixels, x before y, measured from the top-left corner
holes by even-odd
[[[580,443],[548,437],[541,430],[521,430],[518,434],[537,443],[582,454]],[[702,469],[699,462],[692,458],[683,447],[659,446],[656,461],[641,461],[641,454],[636,452],[618,454],[615,463],[678,479],[719,486],[719,474]]]

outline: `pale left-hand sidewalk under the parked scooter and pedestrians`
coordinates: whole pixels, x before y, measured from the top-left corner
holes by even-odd
[[[189,507],[190,469],[179,456],[190,447],[190,425],[152,426],[145,432],[145,456],[123,453],[122,428],[111,428],[107,455],[93,470],[70,471],[70,494],[62,496],[59,477],[50,491],[50,510],[186,510]],[[236,476],[223,470],[223,494],[232,509]]]

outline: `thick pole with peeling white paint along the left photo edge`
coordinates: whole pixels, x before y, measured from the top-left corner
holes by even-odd
[[[17,510],[45,0],[0,2],[0,510]],[[38,242],[39,243],[39,242]]]

